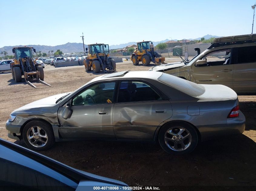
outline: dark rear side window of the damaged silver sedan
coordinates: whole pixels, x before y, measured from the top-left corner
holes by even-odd
[[[148,84],[139,81],[122,81],[118,91],[118,102],[162,100]]]

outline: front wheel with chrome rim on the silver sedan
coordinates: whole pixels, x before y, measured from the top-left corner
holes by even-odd
[[[29,149],[47,150],[55,143],[52,126],[45,121],[33,120],[23,128],[22,137]]]

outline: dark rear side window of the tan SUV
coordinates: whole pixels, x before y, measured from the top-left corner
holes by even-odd
[[[256,62],[256,46],[246,46],[238,48],[237,63]]]

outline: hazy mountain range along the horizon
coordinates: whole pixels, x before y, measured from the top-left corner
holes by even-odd
[[[209,39],[212,37],[217,38],[219,36],[207,34],[203,37],[204,37],[204,39]],[[172,39],[172,40],[177,41],[177,39]],[[198,37],[196,39],[189,39],[189,40],[201,40],[201,37]],[[156,46],[159,43],[165,43],[167,41],[169,41],[169,39],[156,41],[156,42],[153,41],[153,44],[154,44],[154,46]],[[129,42],[129,43],[118,44],[118,45],[110,45],[109,49],[120,49],[120,48],[124,48],[131,44],[136,44],[136,42]],[[17,46],[23,46],[23,45],[17,45]],[[37,52],[41,51],[41,53],[48,53],[48,51],[51,51],[51,50],[56,52],[58,49],[60,49],[63,53],[79,53],[79,52],[84,51],[83,43],[66,43],[66,44],[57,45],[57,46],[46,46],[46,45],[26,45],[26,46],[32,46],[36,49]],[[0,48],[0,53],[2,51],[6,51],[8,53],[8,55],[12,55],[13,47],[15,47],[15,46],[4,46],[4,47]],[[85,48],[86,47],[88,47],[88,46],[85,44]],[[2,56],[2,55],[0,55],[0,56]]]

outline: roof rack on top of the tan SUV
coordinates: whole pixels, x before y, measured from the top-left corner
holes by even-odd
[[[231,44],[243,44],[243,43],[256,43],[256,34],[245,34],[229,37],[220,37],[213,39],[213,43],[209,46],[208,49],[227,46]]]

